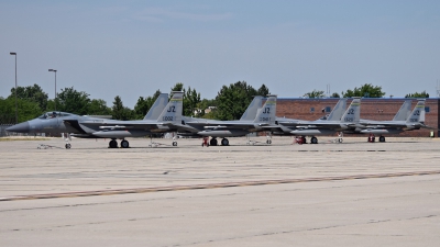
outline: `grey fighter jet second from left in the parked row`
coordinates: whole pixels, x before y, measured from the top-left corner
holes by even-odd
[[[229,139],[226,137],[244,136],[252,132],[265,131],[263,126],[275,124],[276,96],[267,96],[267,100],[262,108],[262,98],[255,97],[248,110],[240,120],[219,121],[196,117],[184,117],[182,124],[176,127],[179,132],[186,132],[196,136],[211,136],[209,144],[217,146],[217,137],[222,137],[221,145],[228,146]],[[272,141],[268,141],[271,144]]]

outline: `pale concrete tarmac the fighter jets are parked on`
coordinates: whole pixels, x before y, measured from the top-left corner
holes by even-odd
[[[253,139],[0,142],[0,246],[440,243],[439,139]]]

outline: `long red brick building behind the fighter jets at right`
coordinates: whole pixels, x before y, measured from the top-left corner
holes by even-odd
[[[319,117],[329,114],[339,99],[326,98],[326,99],[300,99],[300,98],[278,98],[276,105],[276,116],[289,117],[299,120],[317,120]],[[361,101],[361,119],[365,120],[377,120],[388,121],[393,120],[394,115],[400,109],[405,98],[362,98]],[[351,103],[349,99],[346,105]],[[413,106],[417,103],[417,99],[413,99]],[[425,124],[439,127],[439,104],[440,99],[427,99],[425,103]],[[413,137],[428,137],[431,134],[431,130],[421,128],[417,131],[407,131],[400,134],[386,135],[386,136],[413,136]],[[351,135],[351,136],[363,136]],[[435,136],[439,136],[439,131],[435,131]]]

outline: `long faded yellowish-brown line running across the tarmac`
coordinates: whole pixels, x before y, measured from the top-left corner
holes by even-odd
[[[372,179],[372,178],[393,178],[393,177],[395,178],[395,177],[426,176],[426,175],[439,175],[439,173],[440,173],[440,170],[432,170],[432,171],[411,171],[411,172],[395,172],[395,173],[378,173],[378,175],[354,175],[354,176],[341,176],[341,177],[304,178],[304,179],[240,181],[240,182],[175,186],[175,187],[134,188],[134,189],[99,190],[99,191],[77,191],[77,192],[67,192],[67,193],[28,194],[28,195],[6,197],[6,198],[0,198],[0,202],[36,200],[36,199],[58,199],[58,198],[79,198],[79,197],[114,195],[114,194],[130,194],[130,193],[150,193],[150,192],[178,191],[178,190],[201,190],[201,189],[218,189],[218,188],[231,188],[231,187],[251,187],[251,186],[266,186],[266,184],[282,184],[282,183],[298,183],[298,182],[341,181],[341,180],[351,180],[351,179]]]

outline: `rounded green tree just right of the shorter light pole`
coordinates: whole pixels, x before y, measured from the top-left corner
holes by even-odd
[[[56,101],[57,111],[70,112],[78,115],[88,114],[89,94],[84,91],[78,92],[74,87],[62,89]]]

